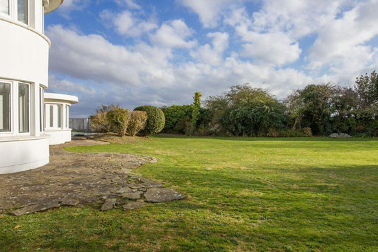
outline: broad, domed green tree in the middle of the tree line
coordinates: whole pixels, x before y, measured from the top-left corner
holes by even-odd
[[[270,129],[285,127],[285,107],[266,90],[248,84],[234,85],[221,96],[206,101],[224,133],[236,136],[262,136]]]

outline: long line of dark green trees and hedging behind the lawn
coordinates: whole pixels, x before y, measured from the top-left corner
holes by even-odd
[[[353,87],[307,85],[283,100],[249,84],[190,105],[162,107],[163,132],[199,136],[378,136],[378,74],[356,78]]]

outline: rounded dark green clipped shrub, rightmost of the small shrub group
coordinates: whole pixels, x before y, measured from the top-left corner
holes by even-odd
[[[164,129],[165,117],[162,109],[154,106],[140,106],[136,107],[134,111],[144,111],[147,113],[146,127],[144,127],[143,133],[145,136],[151,134],[157,134]]]

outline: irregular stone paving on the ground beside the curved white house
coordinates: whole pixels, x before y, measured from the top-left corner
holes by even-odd
[[[137,209],[144,202],[181,200],[184,195],[132,174],[156,158],[114,153],[71,153],[63,147],[103,145],[95,140],[73,140],[50,147],[50,162],[39,169],[0,175],[0,213],[15,216],[62,206],[91,205],[101,210],[123,206]]]

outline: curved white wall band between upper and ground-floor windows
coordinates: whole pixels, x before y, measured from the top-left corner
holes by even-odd
[[[48,86],[49,41],[27,25],[0,17],[0,78]]]

